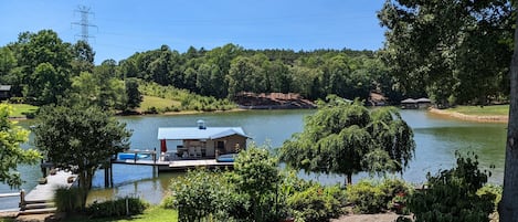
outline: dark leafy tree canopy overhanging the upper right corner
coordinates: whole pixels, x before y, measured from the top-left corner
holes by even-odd
[[[507,96],[512,7],[508,0],[390,1],[382,59],[406,94],[423,88],[438,104],[486,105]]]

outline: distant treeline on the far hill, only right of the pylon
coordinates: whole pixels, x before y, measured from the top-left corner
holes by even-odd
[[[118,63],[120,75],[233,99],[240,92],[298,93],[309,99],[336,94],[367,99],[382,91],[399,99],[387,68],[372,51],[245,50],[226,44],[179,53],[167,45]]]

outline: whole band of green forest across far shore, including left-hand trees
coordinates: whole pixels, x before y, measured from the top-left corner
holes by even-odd
[[[308,99],[336,94],[367,101],[371,91],[399,101],[372,51],[295,52],[226,44],[212,50],[191,46],[180,53],[162,45],[118,62],[95,65],[94,59],[95,50],[86,42],[64,42],[52,30],[24,32],[0,47],[0,83],[12,85],[17,101],[35,105],[86,103],[119,110],[138,107],[141,98],[135,88],[141,82],[231,101],[241,92],[296,93]]]

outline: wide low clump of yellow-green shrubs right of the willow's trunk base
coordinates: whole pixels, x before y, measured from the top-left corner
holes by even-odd
[[[399,179],[385,178],[381,182],[361,180],[348,186],[347,200],[353,204],[355,212],[379,213],[394,209],[394,203],[406,204],[406,197],[413,193],[413,188]]]

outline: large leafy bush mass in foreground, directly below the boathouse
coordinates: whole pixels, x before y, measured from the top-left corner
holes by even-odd
[[[277,160],[252,146],[240,152],[234,171],[198,169],[171,180],[162,205],[177,209],[180,221],[277,221],[286,212],[276,197],[279,180]]]

